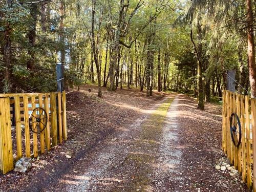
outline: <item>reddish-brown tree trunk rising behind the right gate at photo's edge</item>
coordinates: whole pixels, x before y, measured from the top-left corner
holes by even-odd
[[[246,0],[247,11],[247,38],[248,38],[248,59],[249,59],[249,78],[251,87],[251,97],[256,98],[256,65],[255,65],[255,48],[253,34],[253,12],[251,0]]]

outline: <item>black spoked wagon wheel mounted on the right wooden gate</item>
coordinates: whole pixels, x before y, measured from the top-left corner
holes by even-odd
[[[242,138],[241,123],[236,113],[230,116],[230,134],[234,146],[239,147]]]

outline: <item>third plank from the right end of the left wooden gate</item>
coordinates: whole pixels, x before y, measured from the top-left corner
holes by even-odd
[[[52,123],[52,145],[58,144],[57,139],[57,110],[56,110],[56,94],[50,93],[51,123]]]

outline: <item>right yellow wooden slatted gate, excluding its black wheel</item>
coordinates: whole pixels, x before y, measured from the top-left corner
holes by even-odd
[[[234,146],[230,135],[230,116],[236,113],[241,122],[242,140]],[[230,91],[223,92],[222,149],[238,169],[243,182],[256,191],[256,99]]]

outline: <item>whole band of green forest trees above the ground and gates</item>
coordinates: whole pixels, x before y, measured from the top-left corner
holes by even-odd
[[[0,2],[0,90],[56,91],[97,83],[221,97],[227,71],[256,97],[255,2],[6,0]],[[47,85],[47,86],[46,86]]]

